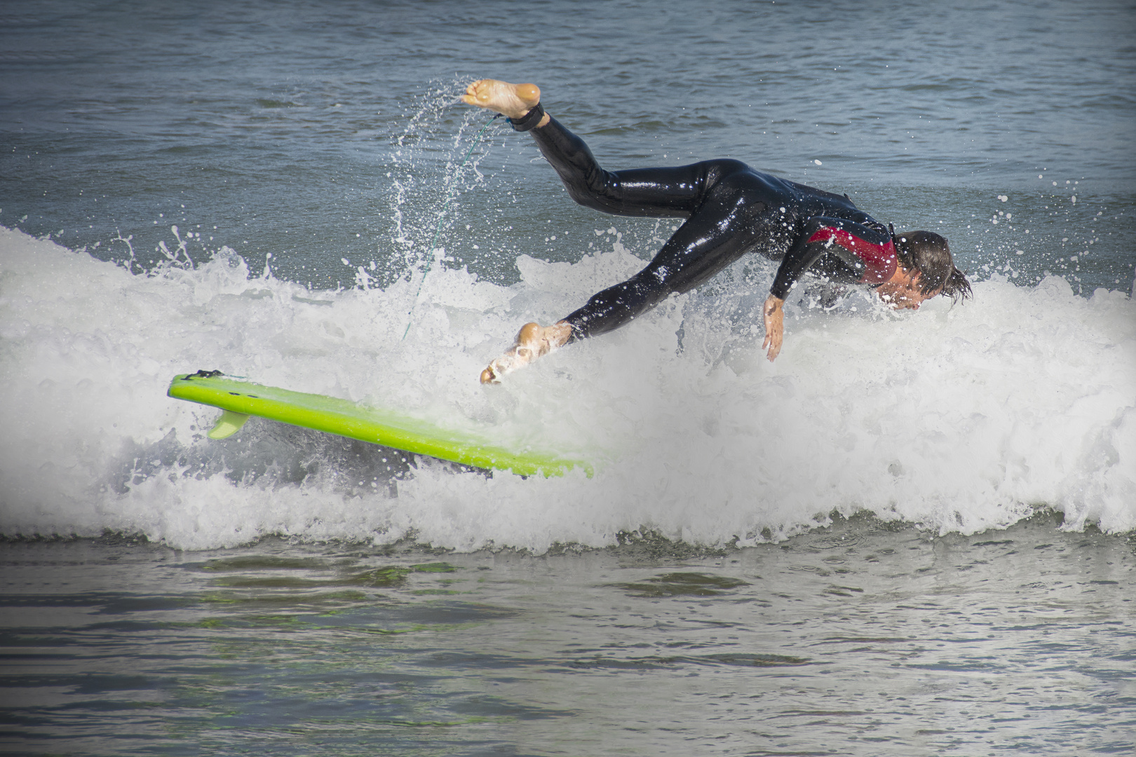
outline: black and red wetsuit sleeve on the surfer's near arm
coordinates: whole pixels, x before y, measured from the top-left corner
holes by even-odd
[[[857,224],[843,218],[815,216],[782,259],[770,294],[784,300],[807,270],[826,253],[836,270],[826,270],[842,284],[883,284],[895,272],[892,235],[882,225]]]

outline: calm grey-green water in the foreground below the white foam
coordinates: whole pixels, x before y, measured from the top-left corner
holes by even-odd
[[[3,548],[20,754],[1127,754],[1130,539]],[[685,554],[684,554],[685,553]]]

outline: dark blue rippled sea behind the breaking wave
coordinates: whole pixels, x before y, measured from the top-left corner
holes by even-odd
[[[133,236],[143,266],[179,224],[203,229],[191,249],[272,253],[278,275],[316,287],[351,284],[341,258],[401,275],[395,143],[425,142],[414,200],[436,208],[465,111],[408,121],[432,93],[494,76],[541,84],[612,167],[740,158],[849,192],[897,228],[945,230],[971,267],[1027,249],[1036,278],[1093,242],[1072,272],[1088,292],[1126,287],[1134,16],[1117,2],[14,6],[0,27],[0,221],[106,258]],[[491,145],[471,215],[519,187],[523,217],[541,207],[533,220],[592,225],[553,201],[527,141],[498,127]],[[992,227],[999,211],[1012,232]],[[575,258],[531,227],[510,229],[510,246]]]

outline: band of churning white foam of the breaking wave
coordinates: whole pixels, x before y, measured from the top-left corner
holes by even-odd
[[[834,510],[974,532],[1043,505],[1067,528],[1136,528],[1136,305],[1124,293],[995,278],[972,302],[919,313],[867,297],[790,309],[770,364],[746,335],[768,283],[751,292],[735,269],[725,295],[673,298],[482,387],[521,323],[561,317],[642,261],[620,249],[518,266],[511,287],[434,270],[402,340],[404,283],[309,292],[228,251],[141,276],[0,229],[0,531],[543,550],[636,529],[744,545]],[[210,441],[216,411],[166,397],[172,376],[199,368],[586,451],[598,472],[487,477],[420,460],[387,480],[371,476],[377,452],[342,462],[346,447],[312,435],[298,449],[278,424]]]

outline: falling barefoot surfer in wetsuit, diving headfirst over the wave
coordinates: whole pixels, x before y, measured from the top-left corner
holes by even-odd
[[[762,309],[761,347],[769,360],[782,348],[785,297],[805,271],[838,285],[875,287],[880,300],[896,309],[918,309],[939,294],[952,300],[971,294],[944,237],[932,232],[895,234],[858,210],[847,195],[728,159],[607,171],[583,140],[544,111],[535,84],[481,79],[461,99],[502,113],[513,129],[532,134],[579,204],[616,216],[685,219],[632,278],[593,295],[552,326],[523,326],[512,348],[482,371],[482,384],[496,384],[557,347],[619,328],[668,295],[705,283],[747,252],[780,261]]]

